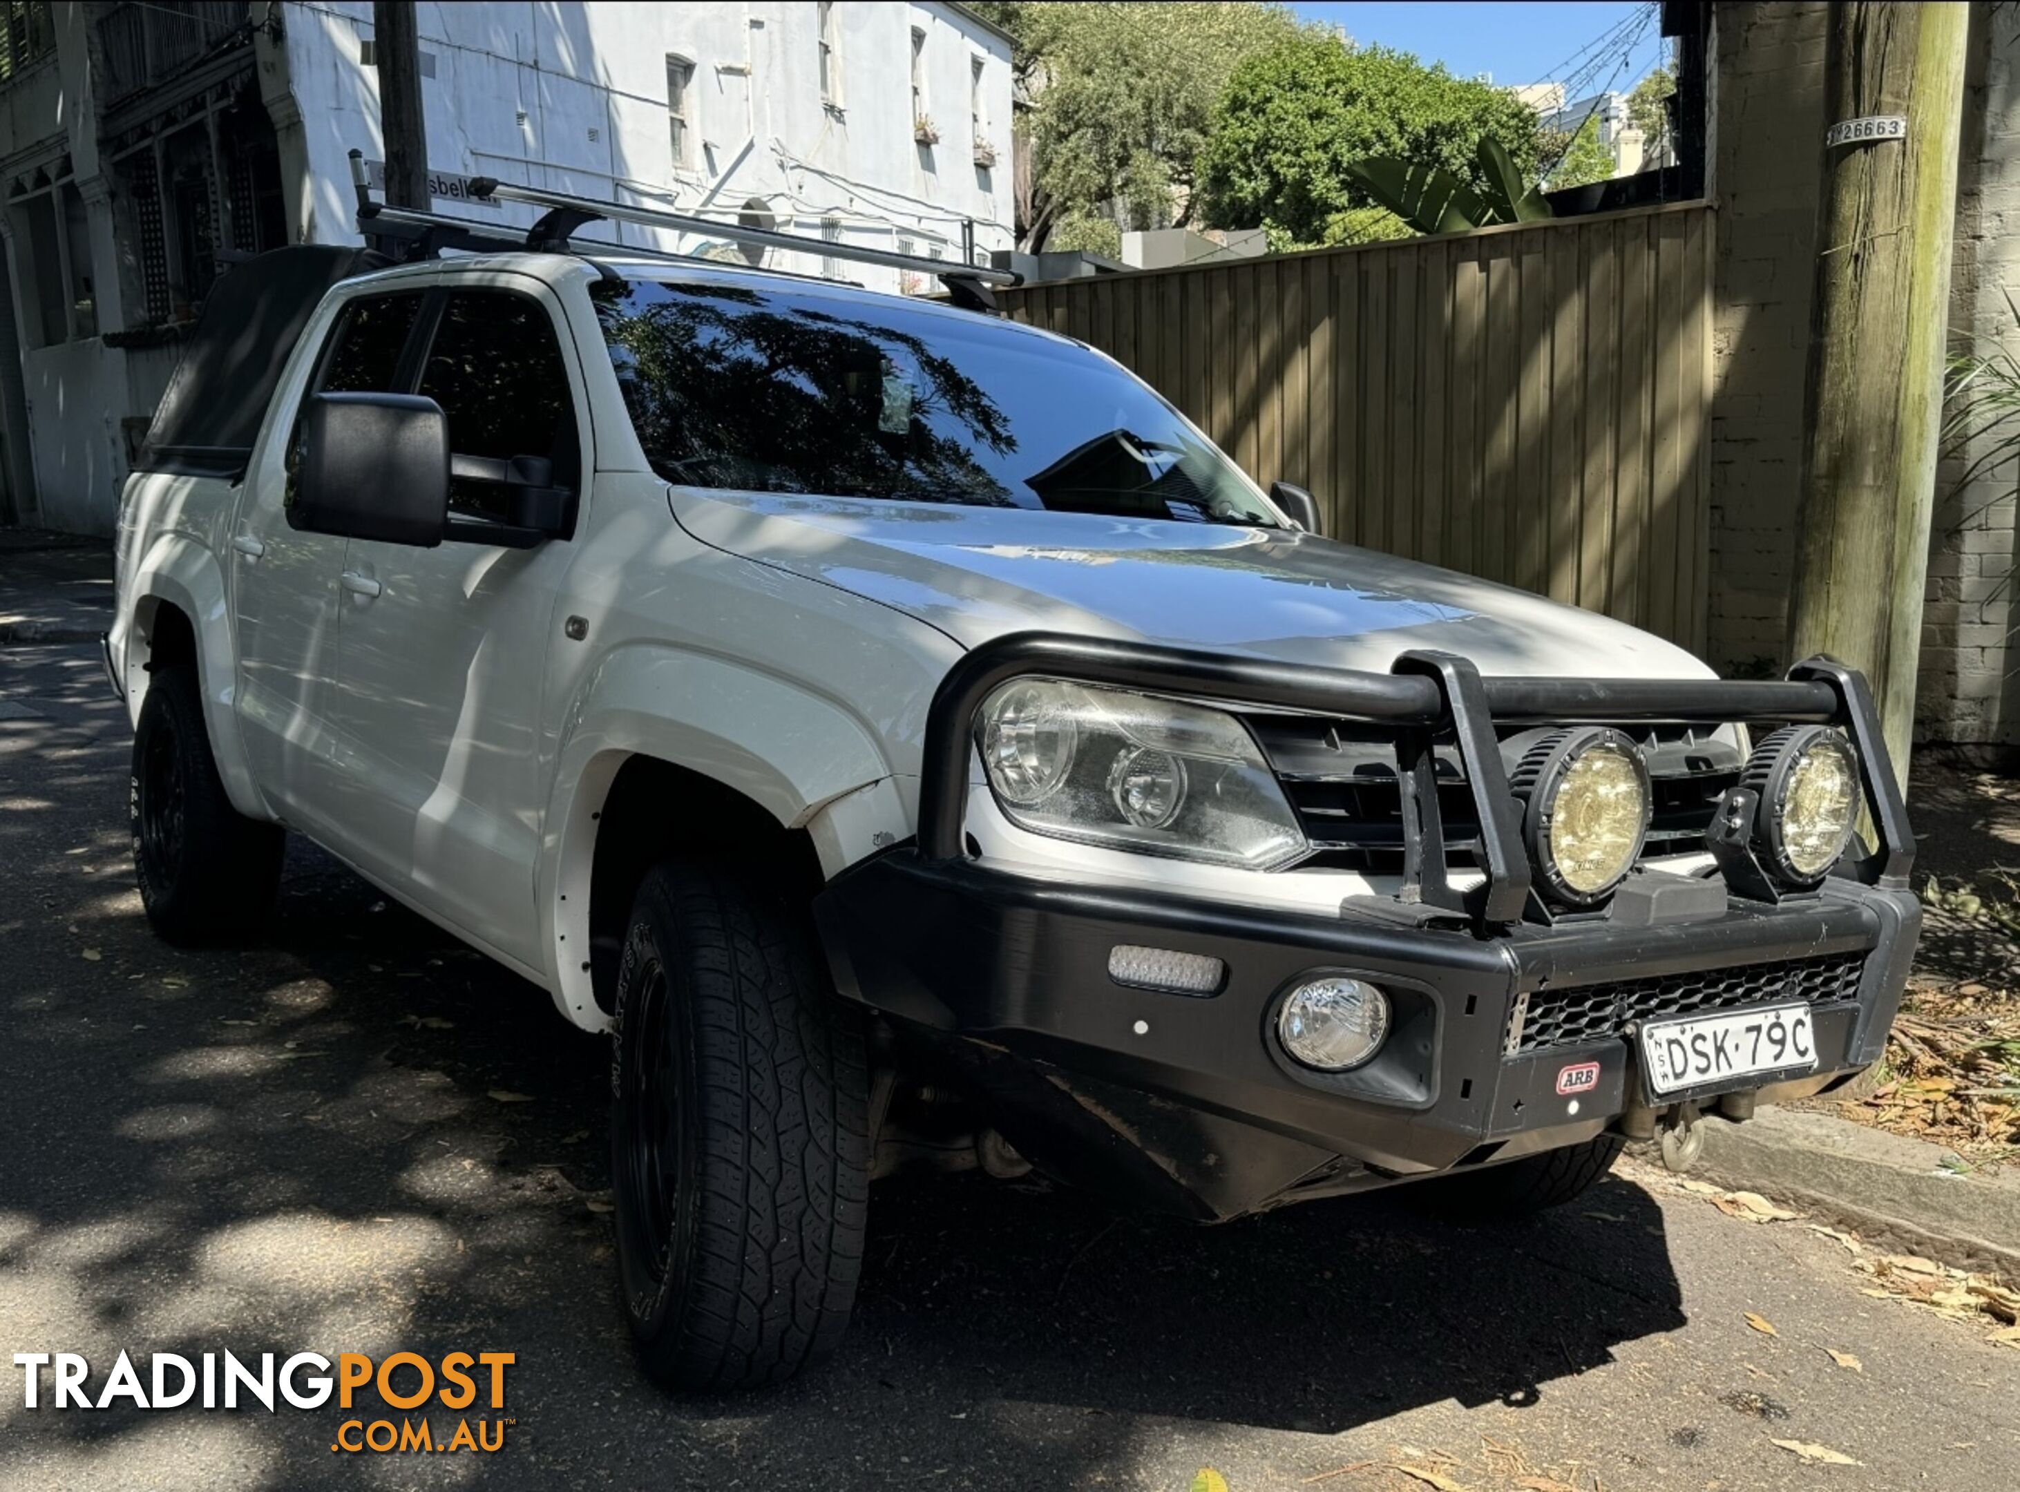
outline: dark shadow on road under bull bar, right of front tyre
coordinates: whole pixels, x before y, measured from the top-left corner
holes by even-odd
[[[854,1345],[909,1353],[945,1393],[1311,1433],[1444,1399],[1525,1407],[1683,1324],[1660,1221],[1614,1181],[1493,1228],[1400,1193],[1198,1228],[899,1179],[873,1193]]]

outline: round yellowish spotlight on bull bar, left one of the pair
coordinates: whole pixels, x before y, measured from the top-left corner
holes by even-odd
[[[1620,731],[1586,727],[1537,741],[1509,785],[1541,890],[1594,907],[1634,868],[1648,834],[1648,763]]]

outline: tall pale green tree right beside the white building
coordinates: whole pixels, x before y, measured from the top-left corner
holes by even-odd
[[[1117,252],[1121,228],[1188,224],[1228,75],[1297,32],[1279,4],[976,4],[1016,38],[1018,242]],[[1113,224],[1105,228],[1103,222]]]

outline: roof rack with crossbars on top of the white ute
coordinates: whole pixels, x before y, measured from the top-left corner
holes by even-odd
[[[947,287],[947,297],[970,311],[994,311],[994,287],[1022,285],[1024,277],[1006,269],[982,269],[978,264],[947,264],[943,258],[923,258],[919,254],[893,254],[883,248],[863,248],[828,238],[808,238],[804,234],[774,232],[770,228],[745,228],[713,218],[691,218],[683,212],[659,212],[654,208],[632,208],[622,202],[596,202],[568,192],[547,192],[537,186],[515,186],[493,176],[473,176],[471,196],[485,202],[525,202],[545,208],[539,220],[519,234],[515,228],[495,228],[469,218],[450,218],[440,212],[418,208],[394,208],[372,200],[366,178],[364,151],[351,151],[351,184],[358,190],[358,230],[368,236],[406,244],[404,258],[434,258],[444,248],[465,252],[525,250],[535,254],[622,254],[626,258],[693,260],[695,254],[673,254],[663,248],[638,248],[632,244],[612,244],[602,240],[576,238],[576,230],[590,222],[636,222],[646,228],[671,228],[673,232],[697,232],[711,238],[727,238],[735,244],[758,248],[788,248],[798,254],[820,254],[822,258],[848,258],[858,264],[881,264],[885,269],[909,269],[931,275]],[[782,273],[782,271],[772,271]]]

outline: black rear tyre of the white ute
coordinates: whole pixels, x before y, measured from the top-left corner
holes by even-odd
[[[287,832],[246,818],[224,795],[190,666],[162,668],[147,684],[127,822],[141,907],[170,943],[236,937],[273,909]]]

